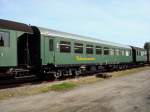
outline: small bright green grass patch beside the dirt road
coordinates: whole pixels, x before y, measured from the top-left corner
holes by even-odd
[[[74,89],[75,87],[78,87],[78,85],[75,83],[63,82],[60,84],[54,84],[50,86],[50,89],[54,91],[63,91],[63,90],[71,90]]]

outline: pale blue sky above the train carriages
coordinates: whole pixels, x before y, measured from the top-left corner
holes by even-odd
[[[0,0],[0,18],[143,47],[150,0]]]

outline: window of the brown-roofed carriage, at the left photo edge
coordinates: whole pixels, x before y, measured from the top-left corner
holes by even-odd
[[[0,31],[0,47],[10,46],[10,34],[9,32]]]

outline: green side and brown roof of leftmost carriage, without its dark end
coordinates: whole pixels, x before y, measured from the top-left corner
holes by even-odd
[[[0,19],[0,74],[10,67],[18,66],[17,43],[27,33],[33,33],[28,25]]]

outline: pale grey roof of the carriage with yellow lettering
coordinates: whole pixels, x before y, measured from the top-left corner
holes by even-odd
[[[128,45],[122,45],[122,44],[104,41],[104,40],[100,40],[100,39],[96,39],[96,38],[66,33],[66,32],[62,32],[62,31],[56,31],[53,29],[47,29],[47,28],[42,28],[42,27],[38,27],[38,28],[39,28],[41,34],[43,34],[43,35],[65,37],[65,38],[75,39],[75,40],[79,40],[79,41],[88,41],[88,42],[99,43],[99,44],[104,44],[104,45],[109,45],[109,46],[114,46],[114,47],[131,49],[131,47]]]

